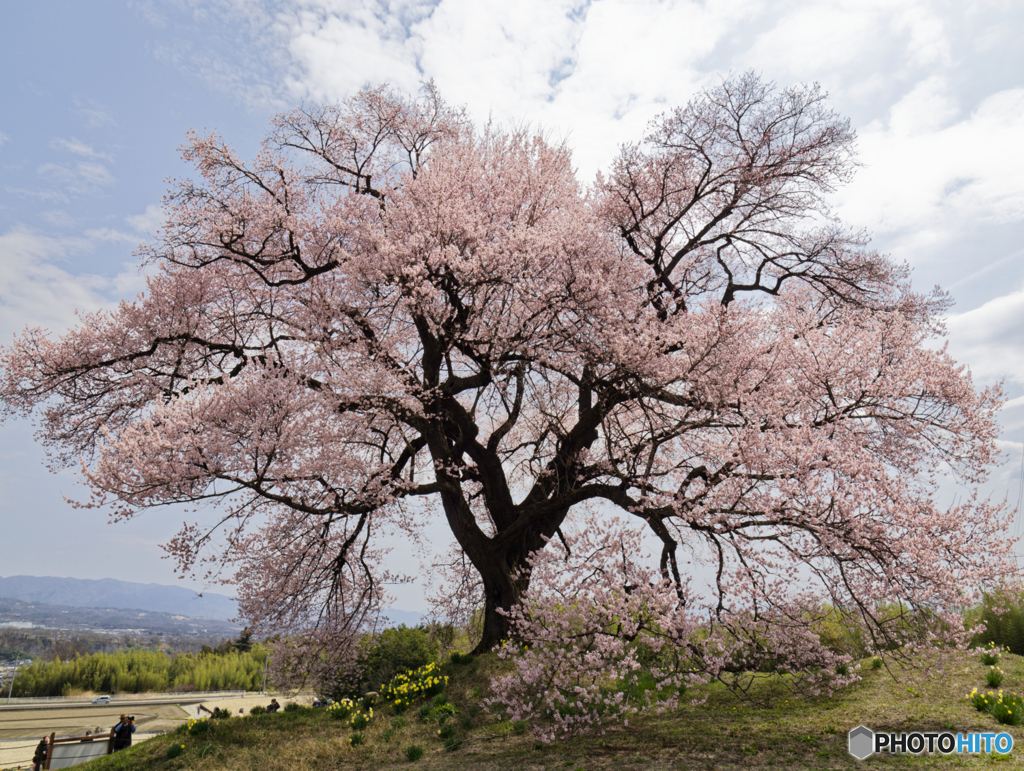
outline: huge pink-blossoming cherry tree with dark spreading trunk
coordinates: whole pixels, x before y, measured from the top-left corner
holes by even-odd
[[[193,135],[148,292],[26,331],[2,397],[115,519],[218,504],[168,550],[233,565],[254,630],[303,632],[295,672],[352,660],[380,537],[444,517],[485,650],[595,505],[657,540],[678,603],[684,555],[712,619],[802,650],[815,591],[881,647],[881,603],[942,612],[1010,565],[998,509],[932,499],[950,468],[984,477],[999,395],[936,349],[943,296],[830,214],[853,141],[817,87],[753,75],[589,188],[566,147],[432,86],[282,115],[251,162]]]

